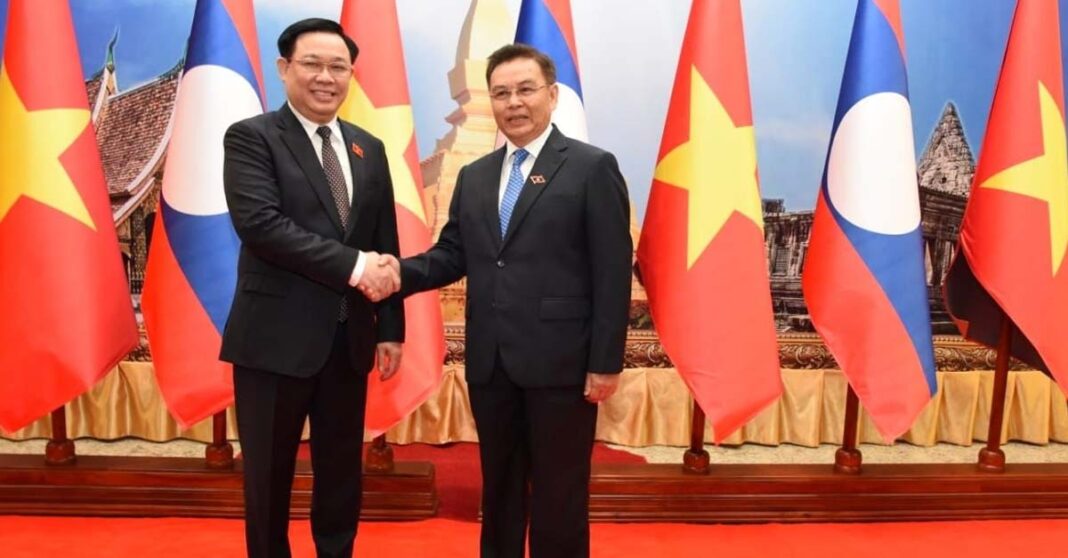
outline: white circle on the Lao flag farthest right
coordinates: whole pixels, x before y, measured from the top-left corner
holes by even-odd
[[[920,224],[912,111],[898,93],[853,105],[834,135],[827,167],[830,202],[849,222],[904,234]]]

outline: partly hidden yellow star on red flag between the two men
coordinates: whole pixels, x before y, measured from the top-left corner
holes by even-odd
[[[386,144],[386,156],[390,160],[390,176],[393,179],[393,196],[396,203],[407,207],[424,224],[423,200],[415,187],[415,179],[411,175],[404,152],[408,149],[415,123],[410,105],[394,105],[376,107],[371,103],[367,93],[355,79],[349,84],[348,98],[342,105],[340,114],[349,122],[356,122],[364,129],[382,140]]]

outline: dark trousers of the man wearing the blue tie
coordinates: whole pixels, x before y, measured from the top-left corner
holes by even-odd
[[[500,367],[469,386],[482,460],[482,558],[590,556],[597,405],[582,386],[521,388]]]

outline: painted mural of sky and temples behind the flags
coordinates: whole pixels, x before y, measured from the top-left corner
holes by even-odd
[[[494,130],[477,83],[451,72],[515,35],[519,0],[396,0],[428,215],[440,230],[459,166],[488,152]],[[283,102],[274,40],[289,22],[336,18],[341,0],[256,0],[268,105]],[[135,299],[151,242],[162,161],[193,0],[70,0],[112,208]],[[614,152],[637,226],[645,211],[668,109],[686,0],[572,0],[592,142]],[[1066,5],[1062,2],[1062,28]],[[954,332],[939,296],[1015,2],[902,0],[926,267],[934,331]],[[7,0],[0,0],[0,21]],[[743,0],[745,42],[776,325],[811,330],[800,270],[845,64],[854,0]],[[42,36],[47,41],[47,36]],[[0,48],[3,30],[0,27]],[[363,57],[375,45],[361,45]],[[455,73],[454,73],[455,74]],[[482,95],[482,96],[480,96]],[[444,292],[456,317],[462,285]],[[641,313],[635,325],[647,324]],[[452,306],[451,306],[452,305]]]

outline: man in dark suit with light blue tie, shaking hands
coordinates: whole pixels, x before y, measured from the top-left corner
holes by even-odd
[[[615,158],[550,125],[555,68],[508,45],[486,72],[504,148],[466,166],[402,292],[465,275],[467,382],[483,472],[482,556],[590,554],[596,403],[623,369],[629,202]]]

